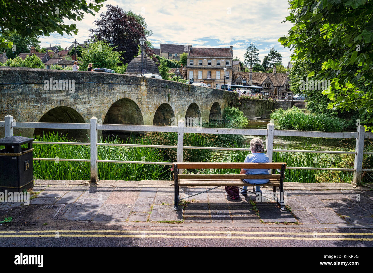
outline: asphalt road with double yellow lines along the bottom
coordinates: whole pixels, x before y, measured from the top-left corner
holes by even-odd
[[[1,247],[373,247],[372,229],[189,228],[1,230]]]

